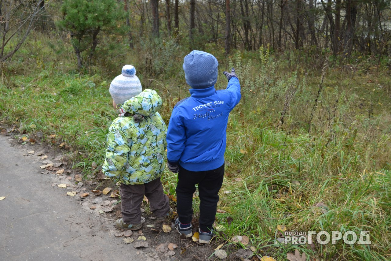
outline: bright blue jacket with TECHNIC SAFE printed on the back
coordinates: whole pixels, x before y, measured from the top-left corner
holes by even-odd
[[[240,83],[233,77],[227,89],[190,89],[191,96],[172,110],[167,130],[167,160],[190,171],[221,167],[230,111],[240,101]]]

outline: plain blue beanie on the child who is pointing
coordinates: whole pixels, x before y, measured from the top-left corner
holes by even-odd
[[[191,51],[183,59],[183,71],[188,85],[194,89],[205,89],[217,82],[217,66],[215,56],[203,51]]]

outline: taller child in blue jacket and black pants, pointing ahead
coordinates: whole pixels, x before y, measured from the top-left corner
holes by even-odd
[[[224,177],[226,129],[230,111],[239,103],[240,84],[235,69],[223,72],[228,79],[225,90],[216,91],[217,59],[203,51],[185,56],[183,70],[190,97],[179,101],[172,110],[167,131],[167,162],[178,173],[176,187],[179,234],[191,237],[192,203],[195,185],[200,198],[199,243],[214,237],[218,192]]]

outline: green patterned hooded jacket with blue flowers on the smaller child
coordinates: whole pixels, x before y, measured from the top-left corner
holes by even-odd
[[[158,112],[160,108],[161,98],[151,89],[125,101],[122,109],[141,114],[144,120],[138,123],[133,116],[118,117],[111,123],[102,166],[106,176],[126,185],[144,184],[160,178],[167,147],[167,126]]]

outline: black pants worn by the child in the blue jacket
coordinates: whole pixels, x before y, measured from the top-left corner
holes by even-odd
[[[224,164],[213,170],[190,171],[180,167],[178,173],[178,185],[176,186],[176,203],[179,221],[187,224],[192,221],[193,193],[195,184],[199,191],[199,227],[203,231],[212,228],[216,217],[217,202],[219,202],[219,190],[224,178]]]

